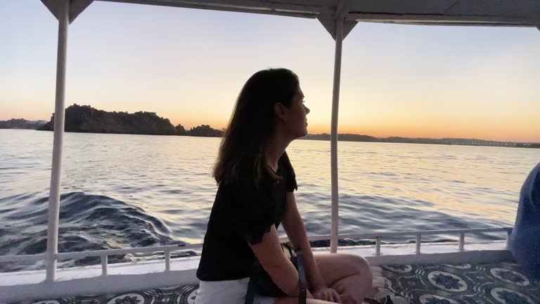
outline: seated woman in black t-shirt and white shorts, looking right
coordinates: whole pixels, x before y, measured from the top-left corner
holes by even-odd
[[[297,303],[298,273],[281,249],[280,223],[304,253],[307,303],[361,303],[371,291],[364,258],[313,255],[307,241],[285,153],[291,141],[307,134],[307,114],[300,81],[290,70],[256,72],[240,91],[214,167],[219,189],[197,270],[196,304],[244,303],[256,260],[286,296],[256,295],[255,303]]]

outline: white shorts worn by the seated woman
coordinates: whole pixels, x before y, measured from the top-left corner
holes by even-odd
[[[231,281],[200,281],[195,304],[244,304],[249,277]],[[255,293],[253,304],[274,304],[276,298]]]

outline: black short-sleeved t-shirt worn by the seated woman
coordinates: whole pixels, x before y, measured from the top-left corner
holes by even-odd
[[[255,262],[252,245],[276,229],[283,220],[286,194],[297,189],[295,172],[287,153],[278,160],[277,175],[266,176],[259,186],[220,184],[208,221],[197,277],[223,281],[250,277]]]

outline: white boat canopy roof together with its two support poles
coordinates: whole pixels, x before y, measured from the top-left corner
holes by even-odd
[[[56,280],[60,172],[65,120],[65,66],[68,25],[94,0],[41,0],[58,19],[56,101],[53,164],[49,194],[46,281]],[[148,4],[212,11],[261,13],[319,20],[335,40],[332,118],[330,122],[330,175],[332,227],[330,252],[338,248],[338,109],[342,42],[359,22],[408,25],[482,25],[537,27],[540,0],[95,0]],[[106,259],[105,259],[106,260]],[[103,260],[102,260],[103,262]],[[105,262],[106,263],[106,262]]]

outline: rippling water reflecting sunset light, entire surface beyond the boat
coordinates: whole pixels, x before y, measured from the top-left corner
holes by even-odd
[[[52,137],[0,129],[1,255],[44,251]],[[65,134],[60,252],[201,242],[218,146]],[[340,142],[338,150],[342,233],[512,225],[521,184],[540,160],[525,148]],[[295,141],[288,153],[308,233],[330,234],[330,142]],[[494,237],[503,235],[477,236]]]

